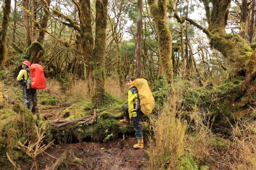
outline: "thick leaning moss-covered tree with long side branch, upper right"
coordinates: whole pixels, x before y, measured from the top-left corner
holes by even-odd
[[[209,0],[201,1],[204,3],[207,20],[209,21],[208,28],[200,26],[186,16],[179,17],[177,12],[175,12],[175,17],[180,23],[187,20],[206,33],[210,44],[227,59],[230,71],[229,77],[242,78],[244,80],[242,86],[250,87],[250,74],[256,68],[255,52],[240,35],[225,32],[231,0],[212,0],[212,10],[209,9]]]

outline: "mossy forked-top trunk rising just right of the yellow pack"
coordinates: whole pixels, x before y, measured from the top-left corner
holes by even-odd
[[[148,0],[150,12],[157,26],[158,51],[166,81],[172,83],[172,35],[166,26],[167,0]]]

